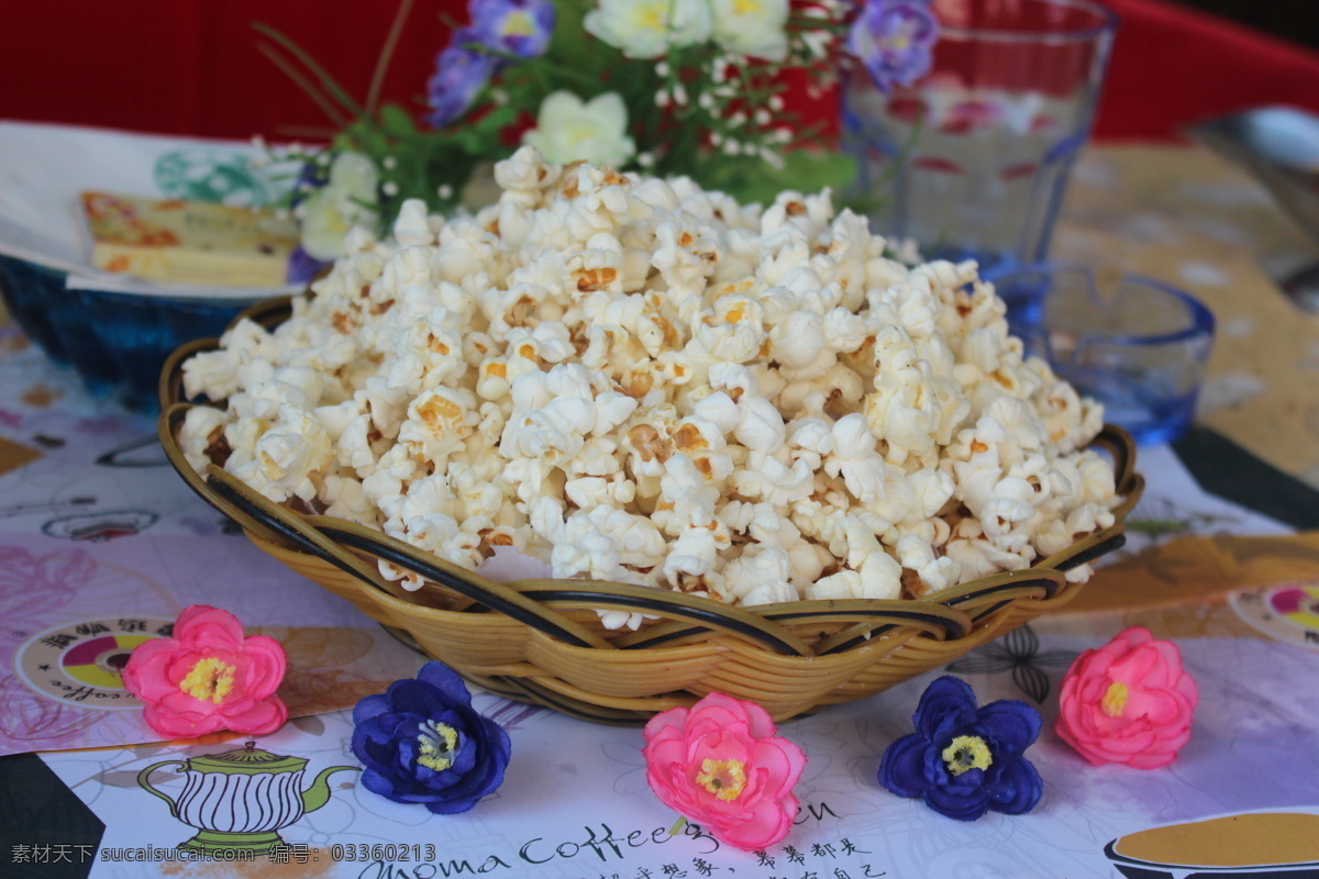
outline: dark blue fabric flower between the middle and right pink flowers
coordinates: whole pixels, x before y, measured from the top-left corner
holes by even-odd
[[[1039,737],[1039,712],[1017,700],[976,708],[976,695],[946,675],[921,695],[915,733],[884,751],[880,784],[898,796],[922,797],[940,814],[975,821],[988,810],[1030,812],[1043,783],[1025,758]]]

